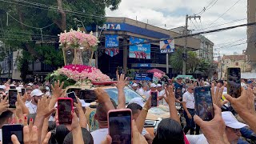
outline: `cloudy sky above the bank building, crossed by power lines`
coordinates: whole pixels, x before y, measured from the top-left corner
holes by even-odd
[[[199,14],[201,21],[191,19],[188,22],[194,33],[247,22],[247,0],[122,0],[118,10],[106,9],[106,16],[137,17],[140,22],[169,30],[185,26],[186,14],[193,16],[204,7],[206,11]],[[242,54],[242,50],[246,50],[247,45],[242,44],[247,39],[246,26],[203,35],[214,42],[214,54]]]

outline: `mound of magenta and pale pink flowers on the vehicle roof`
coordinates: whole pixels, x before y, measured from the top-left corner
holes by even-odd
[[[88,85],[91,82],[110,81],[110,77],[102,74],[102,71],[84,65],[68,65],[64,66],[49,76],[52,80],[60,80],[65,82],[64,87],[71,85]]]

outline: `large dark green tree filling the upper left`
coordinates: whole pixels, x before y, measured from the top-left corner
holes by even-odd
[[[121,0],[11,0],[0,5],[0,41],[14,49],[28,52],[33,59],[54,67],[62,65],[58,34],[76,29],[74,19],[85,26],[102,25],[105,8],[118,9]],[[47,43],[47,44],[46,44]],[[5,54],[0,54],[0,58]],[[54,57],[54,58],[52,58]],[[30,59],[22,62],[30,62]]]

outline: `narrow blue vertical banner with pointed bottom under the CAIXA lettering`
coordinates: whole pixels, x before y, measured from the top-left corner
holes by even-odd
[[[105,34],[105,53],[114,57],[119,53],[118,46],[118,34]]]

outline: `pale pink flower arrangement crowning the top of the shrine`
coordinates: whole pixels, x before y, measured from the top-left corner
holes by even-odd
[[[58,34],[60,46],[70,47],[77,49],[84,47],[88,50],[95,50],[98,45],[98,38],[96,38],[92,32],[86,34],[85,32],[71,29],[70,32],[64,31],[64,33]]]

